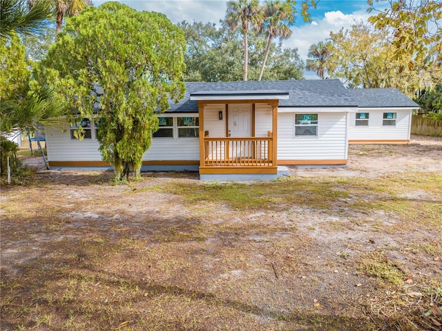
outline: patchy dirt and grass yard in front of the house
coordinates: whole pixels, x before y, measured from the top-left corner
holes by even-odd
[[[442,138],[273,182],[112,175],[1,187],[0,330],[442,330]]]

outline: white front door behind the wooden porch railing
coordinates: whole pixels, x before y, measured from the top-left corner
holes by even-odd
[[[229,137],[252,136],[252,104],[229,104]],[[229,144],[231,158],[248,158],[251,156],[251,144],[245,141],[233,141]]]

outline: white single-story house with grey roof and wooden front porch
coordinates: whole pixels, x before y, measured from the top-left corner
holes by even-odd
[[[184,98],[158,115],[160,129],[144,153],[142,170],[195,170],[203,180],[247,180],[276,178],[278,167],[281,172],[286,165],[345,165],[359,104],[371,106],[363,97],[338,79],[189,82]],[[412,105],[419,106],[403,98],[410,117]],[[404,104],[390,111],[392,102],[386,101],[363,111],[369,120],[374,120],[373,111],[396,113],[397,122],[386,126],[396,130],[402,126],[398,113]],[[50,167],[108,167],[98,150],[95,123],[85,119],[77,125],[86,131],[84,140],[75,138],[76,126],[68,123],[47,130]],[[377,134],[370,138],[367,133],[364,139],[374,140]],[[402,135],[386,137],[402,140]]]

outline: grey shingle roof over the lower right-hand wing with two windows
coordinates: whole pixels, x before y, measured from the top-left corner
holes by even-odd
[[[397,88],[349,88],[348,91],[359,108],[419,108],[419,104]]]

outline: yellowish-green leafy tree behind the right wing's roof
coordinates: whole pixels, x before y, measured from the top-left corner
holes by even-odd
[[[417,66],[407,65],[416,61],[412,54],[403,54],[398,59],[390,37],[390,30],[379,30],[363,22],[351,29],[330,32],[329,76],[342,79],[350,87],[396,87],[410,97],[432,86],[434,70],[424,67],[416,70]]]

